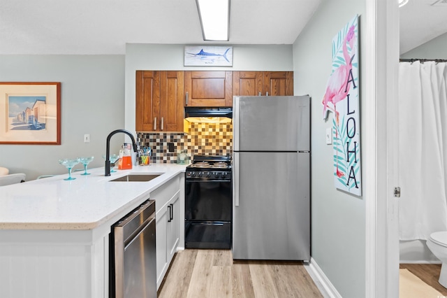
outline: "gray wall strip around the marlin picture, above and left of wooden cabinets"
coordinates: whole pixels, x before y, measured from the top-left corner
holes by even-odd
[[[184,45],[126,45],[126,129],[135,132],[135,71],[292,71],[292,45],[233,45],[232,67],[183,66]]]

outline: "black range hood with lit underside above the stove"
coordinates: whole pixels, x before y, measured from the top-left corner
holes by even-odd
[[[186,106],[184,118],[188,122],[228,123],[233,118],[233,108]]]

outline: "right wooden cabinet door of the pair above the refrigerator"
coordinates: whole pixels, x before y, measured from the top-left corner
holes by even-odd
[[[263,95],[293,95],[293,71],[265,71],[263,89]]]

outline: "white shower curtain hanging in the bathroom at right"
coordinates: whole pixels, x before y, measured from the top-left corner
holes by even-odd
[[[447,231],[447,64],[400,62],[400,240]]]

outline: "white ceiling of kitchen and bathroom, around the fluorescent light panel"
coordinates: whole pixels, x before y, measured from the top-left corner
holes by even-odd
[[[447,4],[435,1],[401,8],[401,52],[447,32]],[[225,43],[291,44],[320,2],[231,0]],[[196,1],[0,0],[0,55],[124,54],[126,43],[206,44]]]

